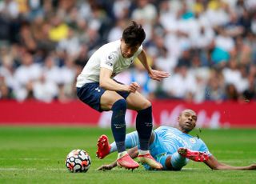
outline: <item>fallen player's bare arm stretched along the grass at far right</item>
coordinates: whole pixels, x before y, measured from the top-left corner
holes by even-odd
[[[205,162],[212,170],[256,170],[256,164],[250,166],[229,166],[222,162],[218,162],[213,155]]]

